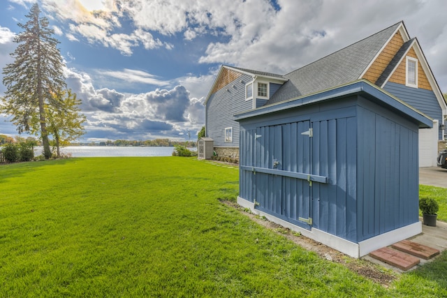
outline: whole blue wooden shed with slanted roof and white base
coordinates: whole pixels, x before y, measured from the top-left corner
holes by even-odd
[[[235,115],[237,202],[359,258],[422,232],[418,128],[432,119],[366,80]]]

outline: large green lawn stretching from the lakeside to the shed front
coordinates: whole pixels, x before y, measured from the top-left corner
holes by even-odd
[[[446,253],[386,289],[219,201],[237,189],[196,158],[1,165],[0,297],[447,296]]]

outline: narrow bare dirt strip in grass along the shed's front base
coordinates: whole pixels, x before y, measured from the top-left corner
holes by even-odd
[[[302,236],[302,234],[294,232],[288,228],[284,228],[277,223],[272,223],[271,221],[268,221],[267,218],[252,214],[243,207],[240,207],[240,205],[235,202],[230,202],[227,200],[222,200],[221,202],[223,204],[227,204],[230,207],[238,209],[245,216],[249,216],[252,221],[256,221],[256,223],[263,225],[265,228],[273,230],[278,234],[282,234],[284,237],[293,241],[295,244],[298,244],[302,248],[306,248],[309,251],[314,251],[321,258],[330,262],[337,262],[339,264],[342,264],[351,271],[354,271],[361,276],[365,276],[365,278],[369,278],[375,283],[381,284],[385,288],[388,288],[390,283],[397,278],[397,274],[390,269],[386,269],[385,267],[381,267],[380,265],[373,264],[372,262],[369,262],[367,260],[351,258],[349,255],[340,253],[334,248],[330,248],[329,246],[326,246],[321,242]]]

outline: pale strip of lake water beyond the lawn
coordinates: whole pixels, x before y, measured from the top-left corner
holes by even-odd
[[[61,154],[71,154],[73,157],[172,156],[173,151],[174,147],[68,146],[61,148]],[[41,154],[43,154],[43,147],[34,147],[34,156]]]

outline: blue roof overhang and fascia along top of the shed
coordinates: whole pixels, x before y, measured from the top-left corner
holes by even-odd
[[[240,121],[242,119],[259,117],[264,114],[281,112],[282,110],[304,107],[307,105],[322,103],[328,100],[336,100],[353,95],[362,95],[378,105],[386,107],[389,110],[393,110],[398,114],[403,114],[404,117],[418,124],[419,128],[433,127],[433,120],[427,115],[423,114],[423,112],[416,110],[414,107],[404,103],[404,101],[389,94],[387,91],[376,87],[376,85],[367,80],[358,80],[349,84],[334,87],[332,89],[320,91],[315,94],[291,98],[290,100],[281,101],[280,103],[258,107],[255,110],[235,114],[234,117],[235,121]]]

